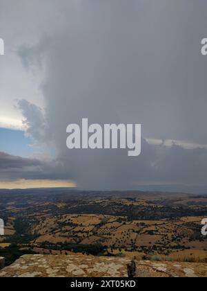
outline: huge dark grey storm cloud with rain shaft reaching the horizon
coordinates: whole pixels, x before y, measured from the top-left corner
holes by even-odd
[[[129,158],[119,150],[66,148],[67,125],[85,117],[90,123],[141,123],[144,139],[207,144],[207,58],[200,53],[207,35],[206,0],[52,5],[61,24],[55,21],[53,30],[46,21],[39,44],[19,49],[26,69],[43,67],[46,109],[26,101],[19,107],[34,141],[55,145],[60,173],[82,188],[206,183],[205,149],[143,140],[141,156]],[[40,19],[48,13],[52,18],[53,11],[42,9]]]

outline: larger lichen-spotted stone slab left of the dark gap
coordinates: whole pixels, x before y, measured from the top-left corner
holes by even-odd
[[[127,277],[127,258],[72,254],[26,255],[4,268],[0,277]]]

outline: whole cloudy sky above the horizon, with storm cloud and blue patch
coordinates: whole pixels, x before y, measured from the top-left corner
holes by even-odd
[[[0,7],[0,187],[206,193],[206,0]],[[141,155],[68,150],[81,118],[141,123]]]

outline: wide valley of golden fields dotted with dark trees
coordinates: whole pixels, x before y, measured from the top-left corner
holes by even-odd
[[[206,195],[68,189],[0,191],[0,256],[82,253],[207,262]]]

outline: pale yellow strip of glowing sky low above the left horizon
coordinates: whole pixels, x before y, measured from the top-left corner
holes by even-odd
[[[0,189],[30,189],[30,188],[75,188],[77,184],[68,180],[30,180],[0,181]]]

